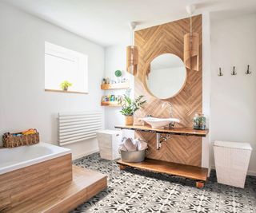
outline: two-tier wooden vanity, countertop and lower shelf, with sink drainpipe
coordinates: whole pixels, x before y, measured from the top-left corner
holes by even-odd
[[[123,125],[115,126],[115,128],[154,133],[156,135],[157,150],[161,148],[162,140],[159,140],[159,138],[161,138],[161,134],[205,137],[209,132],[208,129],[197,130],[193,128],[151,128],[149,125]],[[120,169],[124,169],[128,166],[149,172],[159,172],[173,176],[195,179],[197,187],[204,186],[203,182],[206,181],[208,175],[208,168],[177,164],[163,160],[146,159],[140,163],[127,163],[122,160],[118,160],[117,163],[119,164]]]

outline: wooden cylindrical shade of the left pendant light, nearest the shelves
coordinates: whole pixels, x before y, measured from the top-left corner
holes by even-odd
[[[126,47],[126,70],[132,75],[138,72],[138,47],[129,45]]]

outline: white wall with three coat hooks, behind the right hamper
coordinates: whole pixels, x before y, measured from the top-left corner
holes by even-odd
[[[256,175],[256,14],[211,23],[211,141],[248,142]],[[231,76],[236,66],[238,75]],[[253,72],[246,75],[246,66]],[[218,77],[221,67],[223,77]],[[239,157],[239,156],[238,156]],[[211,156],[211,164],[213,156]]]

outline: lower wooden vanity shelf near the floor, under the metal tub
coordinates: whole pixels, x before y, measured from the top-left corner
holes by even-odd
[[[154,159],[145,159],[140,163],[127,163],[123,162],[122,160],[118,160],[117,163],[121,169],[124,169],[126,166],[128,166],[149,172],[165,173],[168,175],[181,176],[201,181],[206,181],[208,174],[207,168],[199,168],[190,165],[176,164]]]

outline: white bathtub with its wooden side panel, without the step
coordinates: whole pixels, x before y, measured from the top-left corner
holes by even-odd
[[[0,148],[0,212],[72,181],[70,149],[39,143]]]

